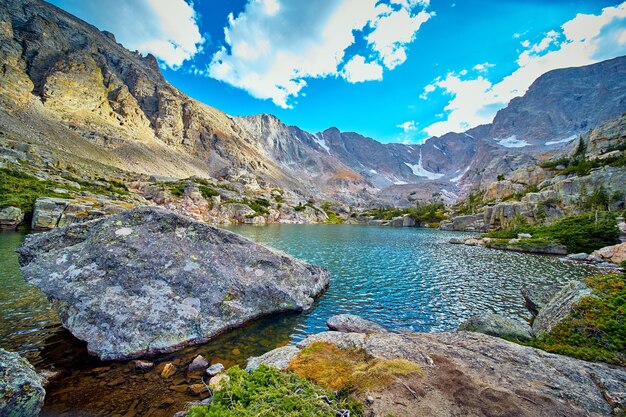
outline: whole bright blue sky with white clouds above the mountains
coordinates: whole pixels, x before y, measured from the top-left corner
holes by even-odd
[[[626,55],[626,2],[53,0],[186,94],[418,143],[488,123],[540,74]]]

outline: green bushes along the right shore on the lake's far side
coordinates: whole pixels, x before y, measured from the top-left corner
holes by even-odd
[[[560,243],[566,246],[570,253],[590,253],[619,243],[620,232],[612,214],[600,213],[596,221],[596,214],[588,212],[561,217],[550,225],[521,225],[489,232],[484,236],[512,239],[517,237],[518,233],[530,233],[534,239]]]

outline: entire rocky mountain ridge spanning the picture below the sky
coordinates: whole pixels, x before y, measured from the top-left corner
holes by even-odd
[[[305,197],[368,204],[463,195],[559,152],[626,109],[626,57],[552,71],[493,124],[381,144],[270,115],[231,117],[161,75],[156,59],[39,0],[0,0],[0,126],[86,165],[171,177],[252,175]],[[381,192],[382,191],[382,192]],[[417,193],[417,194],[416,194]]]

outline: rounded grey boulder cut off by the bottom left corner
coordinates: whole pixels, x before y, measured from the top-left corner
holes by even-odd
[[[0,349],[0,416],[38,416],[45,395],[35,368],[17,353]]]

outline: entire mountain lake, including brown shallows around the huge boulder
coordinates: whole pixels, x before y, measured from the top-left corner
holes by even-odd
[[[349,225],[230,227],[257,242],[328,268],[328,291],[314,308],[256,320],[204,345],[151,358],[155,370],[137,374],[127,362],[101,362],[60,326],[50,303],[26,285],[15,248],[24,234],[0,233],[0,347],[26,356],[38,369],[59,373],[46,387],[43,417],[169,417],[198,400],[186,385],[199,375],[163,379],[198,354],[226,366],[244,365],[277,346],[326,329],[334,314],[353,313],[392,329],[452,330],[470,315],[494,311],[528,316],[519,289],[551,287],[592,270],[555,257],[451,245],[458,233]],[[183,387],[183,390],[178,388]],[[140,399],[140,400],[139,400]]]

